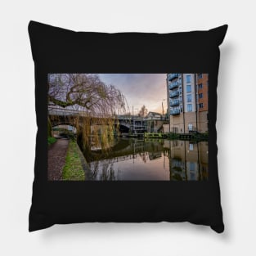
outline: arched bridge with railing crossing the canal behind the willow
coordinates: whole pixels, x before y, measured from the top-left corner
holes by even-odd
[[[110,114],[90,114],[83,110],[70,110],[57,107],[48,108],[48,116],[52,127],[67,124],[76,127],[83,125],[84,119],[89,119],[90,125],[101,125],[100,119],[113,119],[115,125],[119,125],[121,133],[143,133],[147,131],[147,119],[135,115],[110,115]],[[98,120],[98,123],[97,123]]]

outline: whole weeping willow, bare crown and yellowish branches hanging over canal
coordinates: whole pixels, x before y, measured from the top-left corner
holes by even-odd
[[[52,124],[74,126],[84,150],[110,148],[119,136],[117,114],[125,112],[122,92],[97,74],[48,74],[47,89]]]

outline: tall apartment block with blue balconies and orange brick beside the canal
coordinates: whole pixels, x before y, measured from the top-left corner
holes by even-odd
[[[208,132],[208,74],[167,74],[169,132]]]

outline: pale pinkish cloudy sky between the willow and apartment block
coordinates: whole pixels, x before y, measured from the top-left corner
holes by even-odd
[[[126,97],[136,115],[145,105],[148,112],[164,113],[167,109],[166,74],[99,74],[102,82],[112,84]]]

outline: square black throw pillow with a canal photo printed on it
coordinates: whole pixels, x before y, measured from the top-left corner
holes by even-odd
[[[226,32],[29,22],[38,124],[29,231],[74,222],[224,230],[215,123]]]

